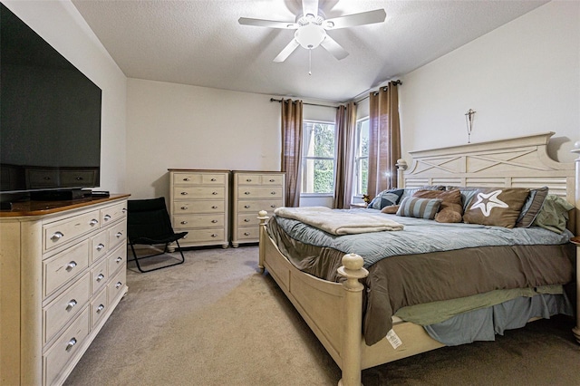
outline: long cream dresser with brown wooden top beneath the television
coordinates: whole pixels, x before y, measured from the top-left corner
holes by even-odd
[[[62,384],[127,292],[127,198],[0,212],[0,384]]]

